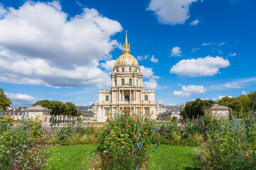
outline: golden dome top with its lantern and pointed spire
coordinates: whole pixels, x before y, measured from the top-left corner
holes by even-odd
[[[124,46],[123,54],[120,57],[118,57],[118,59],[114,63],[114,66],[121,66],[121,65],[139,66],[137,59],[131,55],[131,51],[129,50],[129,44],[127,42],[127,33],[126,33],[126,40],[123,46]]]

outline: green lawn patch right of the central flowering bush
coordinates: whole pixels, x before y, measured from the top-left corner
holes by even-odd
[[[146,167],[153,169],[201,169],[200,163],[191,154],[196,147],[160,145],[149,157]]]

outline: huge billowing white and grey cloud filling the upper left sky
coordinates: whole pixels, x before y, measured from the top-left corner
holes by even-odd
[[[0,7],[1,8],[1,7]],[[122,30],[94,8],[70,20],[59,1],[27,1],[0,18],[0,81],[46,86],[109,86],[99,68],[119,46]],[[107,82],[107,84],[105,83]]]

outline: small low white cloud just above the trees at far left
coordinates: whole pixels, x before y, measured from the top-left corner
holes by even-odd
[[[5,92],[6,96],[13,101],[13,106],[31,106],[33,103],[38,101],[37,98],[29,96],[28,94],[9,94]]]

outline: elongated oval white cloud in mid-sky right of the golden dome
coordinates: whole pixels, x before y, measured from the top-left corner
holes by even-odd
[[[230,65],[223,57],[204,57],[192,60],[181,60],[170,69],[170,73],[175,73],[179,77],[203,77],[213,76],[219,72],[220,68]]]

